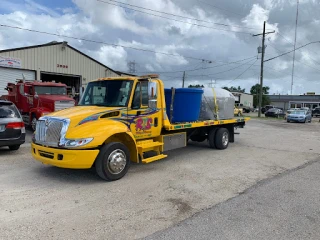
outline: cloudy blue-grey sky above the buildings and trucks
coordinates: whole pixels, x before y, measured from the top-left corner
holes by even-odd
[[[262,32],[263,21],[275,30],[267,35],[265,59],[292,50],[296,9],[296,0],[1,0],[0,24],[60,36],[0,27],[0,49],[68,41],[115,70],[127,72],[135,61],[136,74],[160,73],[166,87],[180,87],[186,70],[186,85],[250,91],[261,57],[261,37],[252,34]],[[319,12],[318,0],[300,0],[297,47],[320,41]],[[271,93],[290,94],[292,57],[265,63]],[[320,43],[297,50],[293,93],[320,94],[319,76]]]

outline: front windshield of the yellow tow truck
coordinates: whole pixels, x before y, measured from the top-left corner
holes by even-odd
[[[88,84],[80,102],[80,106],[125,107],[131,94],[133,81],[106,80]]]

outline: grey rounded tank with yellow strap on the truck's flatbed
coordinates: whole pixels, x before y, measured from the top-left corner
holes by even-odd
[[[235,98],[222,88],[203,88],[199,120],[222,120],[234,117]]]

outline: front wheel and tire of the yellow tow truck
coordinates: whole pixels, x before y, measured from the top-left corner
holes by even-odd
[[[122,178],[130,167],[128,148],[119,142],[103,145],[95,162],[96,172],[104,180],[115,181]]]

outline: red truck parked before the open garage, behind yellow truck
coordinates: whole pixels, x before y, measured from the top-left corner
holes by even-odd
[[[33,130],[41,116],[75,106],[75,100],[67,95],[67,85],[62,83],[19,80],[8,83],[5,90],[8,95],[1,99],[13,102]]]

